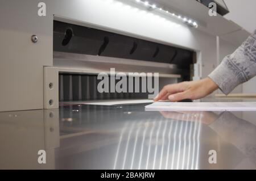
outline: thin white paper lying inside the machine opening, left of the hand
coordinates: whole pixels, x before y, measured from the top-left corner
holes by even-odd
[[[151,99],[115,99],[115,100],[88,100],[88,101],[73,101],[73,102],[61,102],[60,106],[71,105],[71,104],[90,104],[90,105],[101,105],[101,106],[114,106],[119,104],[143,104],[152,103]]]

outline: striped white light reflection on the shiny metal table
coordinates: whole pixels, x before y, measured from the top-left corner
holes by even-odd
[[[202,115],[180,115],[125,125],[114,169],[199,169]]]

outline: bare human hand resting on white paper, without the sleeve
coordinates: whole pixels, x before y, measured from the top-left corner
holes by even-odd
[[[218,85],[209,77],[199,81],[180,82],[166,85],[155,97],[158,100],[171,100],[177,102],[183,99],[200,99],[218,89]]]

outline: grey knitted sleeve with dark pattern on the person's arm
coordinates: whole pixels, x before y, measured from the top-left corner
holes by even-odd
[[[256,30],[208,75],[224,94],[256,75]]]

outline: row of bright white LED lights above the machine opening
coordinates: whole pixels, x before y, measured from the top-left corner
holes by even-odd
[[[175,13],[169,12],[169,11],[167,11],[167,10],[164,10],[164,9],[162,9],[161,7],[156,6],[155,4],[151,5],[148,1],[141,1],[141,0],[135,0],[135,1],[136,1],[137,3],[142,3],[144,6],[151,7],[152,9],[157,9],[157,10],[159,10],[159,11],[164,11],[164,12],[166,12],[168,15],[172,15],[172,16],[174,16],[174,17],[177,18],[177,19],[183,20],[183,22],[188,23],[189,25],[191,25],[191,26],[193,26],[193,27],[195,27],[195,28],[198,27],[198,24],[197,24],[195,21],[193,21],[192,19],[188,19],[188,18],[186,18],[186,17],[182,17],[181,15],[176,15]]]

